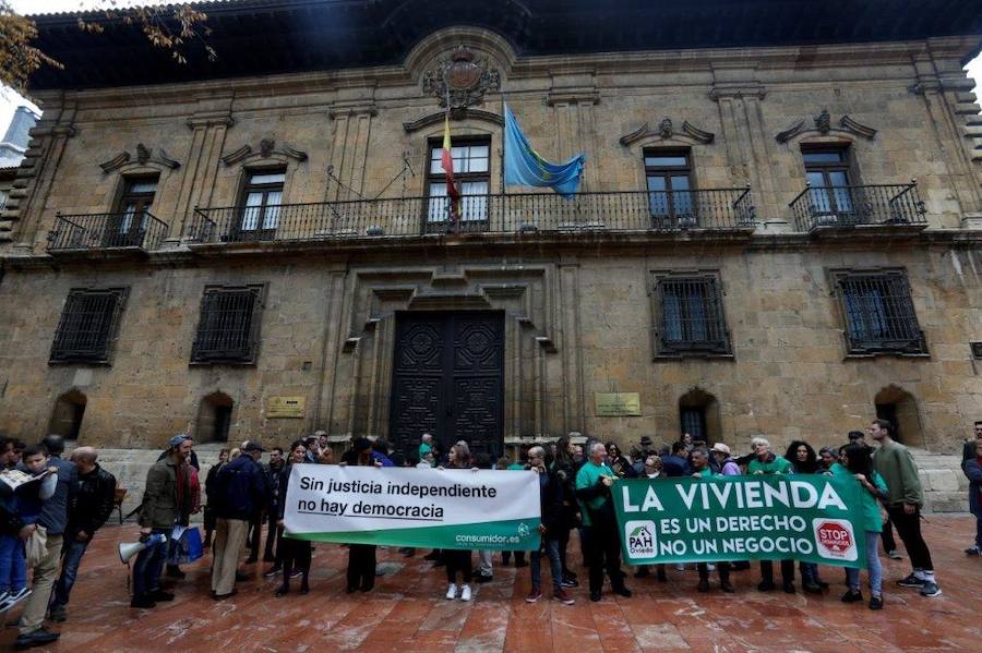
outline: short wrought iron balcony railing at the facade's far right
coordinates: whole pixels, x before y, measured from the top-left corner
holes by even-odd
[[[926,226],[917,182],[863,186],[811,186],[789,205],[798,231],[857,225]]]

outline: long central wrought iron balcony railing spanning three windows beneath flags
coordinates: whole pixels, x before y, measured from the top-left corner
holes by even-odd
[[[750,189],[684,192],[465,195],[197,208],[187,233],[199,243],[409,237],[426,233],[751,231]]]

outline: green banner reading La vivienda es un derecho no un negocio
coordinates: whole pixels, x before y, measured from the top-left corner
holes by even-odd
[[[865,568],[860,485],[824,475],[619,480],[630,565],[794,559]]]

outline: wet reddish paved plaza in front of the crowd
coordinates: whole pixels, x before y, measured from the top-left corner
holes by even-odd
[[[172,603],[139,610],[129,607],[127,570],[115,551],[117,542],[136,539],[136,528],[107,527],[83,560],[69,621],[53,626],[61,641],[48,650],[979,651],[982,559],[962,553],[973,529],[969,517],[929,517],[924,534],[944,596],[922,598],[896,587],[908,563],[884,559],[886,609],[874,613],[839,602],[842,573],[833,568],[823,568],[833,585],[822,596],[762,594],[756,567],[733,575],[735,594],[699,594],[694,570],[670,566],[668,583],[654,575],[628,578],[632,598],[604,593],[600,603],[590,603],[585,588],[578,588],[572,591],[573,606],[550,601],[548,593],[527,604],[528,569],[503,568],[499,556],[493,582],[476,585],[476,600],[468,604],[443,597],[443,569],[394,548],[379,552],[384,576],[375,590],[348,595],[347,552],[334,544],[315,545],[306,596],[274,597],[277,581],[262,577],[264,565],[253,565],[254,579],[238,584],[239,595],[215,602],[208,597],[208,560],[203,559],[187,567]],[[571,543],[571,552],[576,551]],[[572,558],[579,561],[578,553]],[[576,569],[585,580],[585,570]],[[5,629],[0,650],[8,650],[14,637],[14,629]]]

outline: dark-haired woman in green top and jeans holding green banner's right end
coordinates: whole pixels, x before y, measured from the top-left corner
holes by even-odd
[[[843,452],[846,469],[862,485],[860,501],[863,508],[863,530],[866,532],[866,567],[870,573],[870,609],[883,609],[883,567],[879,564],[877,546],[879,532],[883,530],[883,518],[879,516],[879,501],[889,494],[886,482],[873,469],[870,447],[861,444],[848,445]],[[849,591],[842,595],[842,603],[862,602],[859,569],[846,568],[846,583]]]

